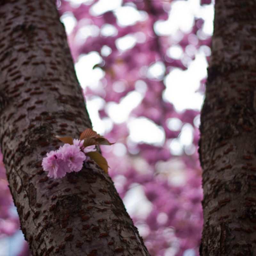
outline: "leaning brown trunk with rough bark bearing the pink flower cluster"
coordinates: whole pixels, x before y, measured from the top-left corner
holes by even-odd
[[[55,0],[0,1],[0,143],[33,255],[149,255],[96,164],[49,179],[41,162],[91,123]]]

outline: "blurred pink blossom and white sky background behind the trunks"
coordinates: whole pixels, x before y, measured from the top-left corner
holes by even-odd
[[[152,256],[197,256],[211,0],[58,0],[109,175]],[[0,158],[0,256],[28,256]]]

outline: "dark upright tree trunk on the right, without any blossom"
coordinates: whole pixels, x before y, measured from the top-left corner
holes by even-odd
[[[200,255],[256,255],[256,1],[216,0],[201,115]]]

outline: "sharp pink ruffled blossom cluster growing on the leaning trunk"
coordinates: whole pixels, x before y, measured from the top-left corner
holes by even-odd
[[[86,160],[84,152],[81,151],[83,141],[74,140],[74,144],[64,144],[58,150],[47,153],[43,158],[44,171],[49,172],[48,177],[62,178],[67,172],[79,172]]]

